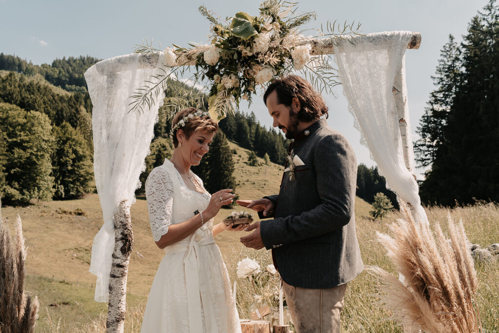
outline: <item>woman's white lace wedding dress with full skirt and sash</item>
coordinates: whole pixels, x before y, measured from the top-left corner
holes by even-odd
[[[203,211],[211,198],[206,190],[199,193],[187,188],[168,159],[149,174],[146,197],[155,241],[171,224]],[[212,229],[210,220],[193,235],[165,248],[147,300],[142,333],[241,332],[231,282]]]

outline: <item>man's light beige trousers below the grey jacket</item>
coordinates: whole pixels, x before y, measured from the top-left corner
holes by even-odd
[[[282,290],[296,333],[339,333],[346,285],[309,289],[283,281]]]

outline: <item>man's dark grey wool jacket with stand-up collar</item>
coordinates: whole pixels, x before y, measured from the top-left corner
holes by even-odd
[[[260,223],[263,244],[288,285],[342,285],[363,270],[355,233],[355,154],[325,119],[297,133],[291,150],[305,165],[294,169],[294,180],[284,173],[279,194],[265,197],[274,203],[274,216]]]

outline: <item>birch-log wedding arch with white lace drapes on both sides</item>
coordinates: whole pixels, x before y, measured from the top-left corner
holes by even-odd
[[[418,32],[393,31],[308,38],[296,46],[310,45],[311,56],[334,54],[362,143],[387,186],[407,203],[415,220],[428,223],[415,177],[405,76],[405,50],[417,49],[420,43]],[[95,182],[104,217],[94,238],[90,272],[97,276],[95,301],[109,302],[107,328],[111,332],[123,331],[133,247],[130,206],[140,186],[139,175],[145,168],[164,91],[155,94],[142,112],[129,112],[129,105],[144,81],[168,71],[165,56],[164,52],[127,54],[102,60],[85,72],[93,103]],[[187,59],[183,64],[195,61]]]

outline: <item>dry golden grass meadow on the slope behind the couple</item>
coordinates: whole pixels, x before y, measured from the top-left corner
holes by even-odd
[[[259,198],[277,193],[282,167],[270,164],[251,167],[247,151],[237,148],[236,193],[241,199]],[[142,311],[154,274],[162,259],[151,237],[147,206],[144,197],[132,205],[131,216],[134,248],[128,275],[127,305],[129,312],[125,332],[140,332]],[[237,207],[234,210],[241,210]],[[385,251],[377,242],[375,231],[389,233],[388,225],[399,218],[390,213],[382,221],[368,219],[370,205],[357,198],[355,215],[357,236],[366,265],[377,265],[394,272]],[[232,210],[219,213],[215,223],[230,215]],[[427,209],[432,223],[445,226],[448,210],[441,207]],[[12,222],[19,214],[27,250],[26,290],[38,295],[40,318],[37,332],[99,332],[105,323],[106,305],[93,301],[95,277],[88,272],[93,237],[102,225],[102,212],[97,194],[80,200],[39,202],[29,207],[2,208],[2,217]],[[456,208],[451,211],[456,221],[462,219],[472,243],[482,247],[499,243],[499,207],[491,204]],[[238,241],[244,232],[224,232],[216,237],[231,274],[240,258]],[[268,252],[258,254],[269,261]],[[265,257],[266,256],[266,257]],[[485,332],[499,332],[499,266],[497,262],[477,265],[480,290],[478,304]],[[348,286],[345,309],[342,313],[343,332],[403,332],[390,320],[390,314],[376,303],[376,282],[362,273]],[[243,296],[238,295],[238,300]],[[244,311],[243,311],[244,312]],[[243,313],[242,312],[242,313]]]

